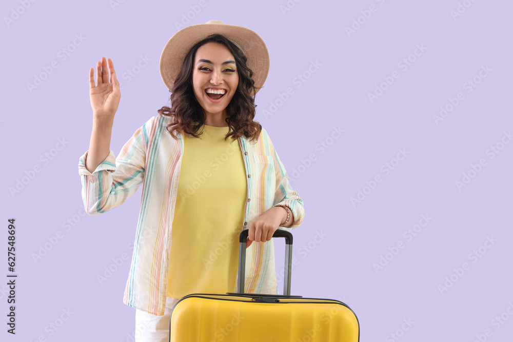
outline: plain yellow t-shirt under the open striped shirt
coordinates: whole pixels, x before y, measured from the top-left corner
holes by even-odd
[[[166,296],[233,292],[239,266],[247,179],[239,140],[228,127],[184,134],[171,232]]]

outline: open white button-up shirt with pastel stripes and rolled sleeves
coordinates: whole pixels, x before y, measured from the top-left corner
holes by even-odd
[[[92,173],[85,166],[88,151],[78,162],[82,199],[90,215],[120,206],[143,185],[123,303],[160,316],[164,315],[166,305],[171,229],[184,151],[183,134],[175,133],[178,138],[175,140],[166,130],[172,120],[168,116],[151,117],[135,131],[117,158],[110,150],[109,156]],[[249,228],[252,219],[277,204],[289,207],[294,218],[292,226],[279,229],[298,228],[304,218],[303,199],[290,187],[266,130],[262,128],[256,141],[245,136],[238,140],[248,194],[241,231]],[[244,292],[278,294],[274,265],[272,240],[253,242],[246,250]]]

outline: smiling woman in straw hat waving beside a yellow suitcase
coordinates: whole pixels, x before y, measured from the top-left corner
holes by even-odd
[[[274,245],[266,242],[278,227],[299,227],[304,207],[253,121],[269,70],[263,39],[221,21],[175,33],[160,61],[171,108],[137,129],[117,158],[110,137],[119,82],[110,58],[96,69],[96,86],[89,70],[93,131],[78,171],[91,215],[120,206],[143,185],[123,300],[136,308],[136,341],[169,340],[169,314],[187,294],[236,292],[243,229],[244,292],[278,294]]]

